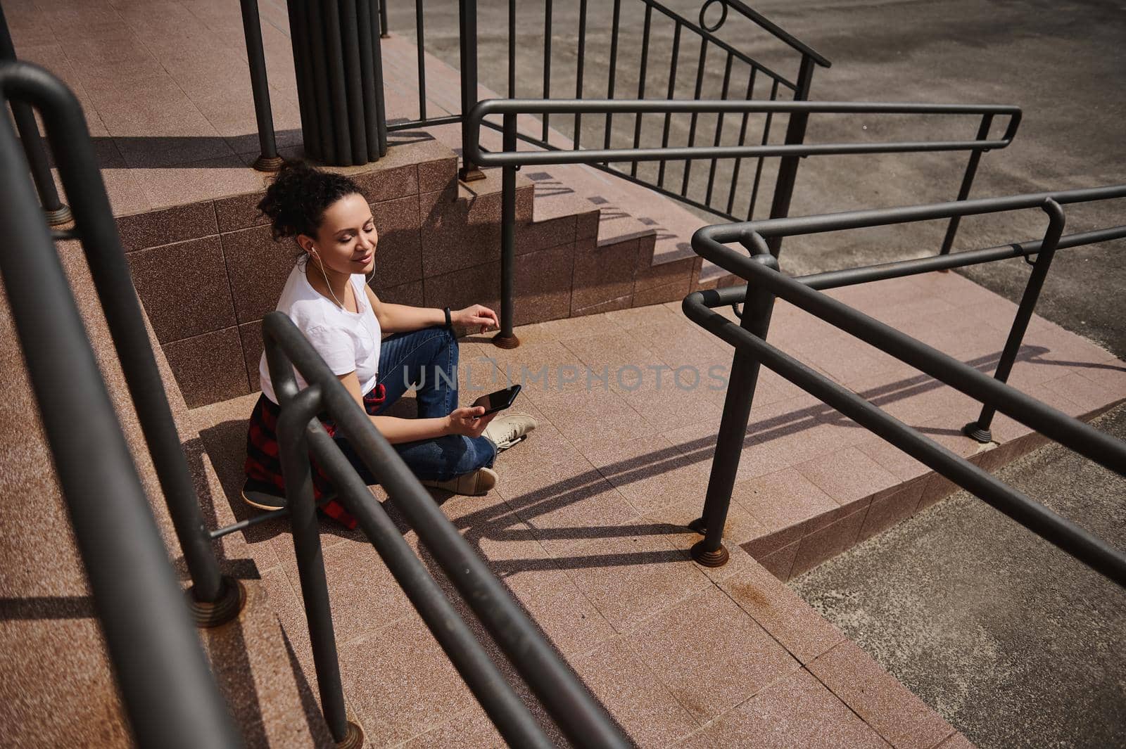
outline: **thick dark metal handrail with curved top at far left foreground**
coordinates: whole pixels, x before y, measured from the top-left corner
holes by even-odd
[[[32,103],[43,117],[123,368],[127,378],[131,370],[135,376],[136,361],[126,361],[118,337],[118,308],[106,305],[107,267],[125,260],[81,107],[57,78],[28,63],[0,64],[0,96]],[[9,188],[0,200],[6,237],[0,273],[129,725],[142,747],[239,747],[33,197],[16,134],[7,117],[0,120],[0,171]],[[116,290],[135,306],[125,272],[128,294]],[[129,379],[131,391],[135,383]],[[162,400],[159,376],[155,388]],[[135,396],[148,425],[144,401]],[[148,428],[145,436],[151,440]],[[214,581],[220,583],[217,569]]]

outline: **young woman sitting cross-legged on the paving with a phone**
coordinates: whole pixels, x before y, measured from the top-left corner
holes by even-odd
[[[378,235],[367,201],[347,177],[287,165],[258,208],[271,219],[275,242],[292,236],[301,249],[277,309],[293,319],[425,485],[467,495],[491,489],[497,452],[524,439],[536,422],[525,414],[482,416],[483,407],[458,407],[453,327],[484,333],[498,325],[497,314],[482,305],[450,310],[379,301],[367,285]],[[275,509],[285,504],[285,484],[275,432],[279,408],[265,353],[258,371],[262,395],[250,417],[242,495],[256,507]],[[301,374],[297,383],[305,387]],[[412,386],[418,388],[418,418],[381,415]],[[336,425],[322,422],[360,476],[374,484]],[[315,461],[313,468],[320,499],[332,488]],[[334,502],[323,509],[355,524]]]

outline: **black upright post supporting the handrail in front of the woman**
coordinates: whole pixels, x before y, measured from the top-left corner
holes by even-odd
[[[277,344],[268,337],[267,350],[270,352],[267,354],[270,377],[276,378],[275,382],[288,380],[286,390],[292,394],[296,388],[296,382],[293,381],[293,367],[285,354],[280,353]],[[313,665],[316,669],[321,710],[337,747],[351,748],[361,746],[364,736],[356,723],[348,721],[345,707],[337,639],[332,631],[332,611],[329,607],[329,584],[324,576],[324,558],[321,553],[321,527],[313,502],[309,436],[305,433],[310,421],[316,417],[321,407],[321,388],[318,385],[310,386],[297,395],[289,395],[288,403],[278,417],[279,458],[282,475],[285,477],[286,506],[289,508],[301,596],[305,603],[309,638],[313,647]]]

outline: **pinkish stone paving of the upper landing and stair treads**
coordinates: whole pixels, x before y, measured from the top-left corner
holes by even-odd
[[[238,4],[185,0],[161,2],[160,9],[152,12],[151,3],[129,0],[17,0],[6,6],[19,58],[43,65],[78,96],[116,216],[253,192],[267,178],[248,169],[259,144]],[[277,147],[283,156],[301,155],[285,2],[262,0],[259,16]],[[382,47],[387,120],[417,119],[418,48],[396,33]],[[457,70],[430,53],[426,65],[428,116],[459,111]],[[479,96],[499,94],[481,87]],[[539,132],[538,120],[518,119],[521,130]],[[427,130],[461,150],[459,126]],[[554,128],[551,138],[560,146],[571,143]],[[497,148],[500,135],[485,128],[482,144]],[[654,267],[664,267],[668,277],[652,273],[653,301],[669,298],[658,298],[665,287],[679,288],[682,265],[691,263],[688,240],[701,225],[698,217],[651,190],[583,165],[528,170],[527,175],[536,186],[537,220],[600,208],[600,243],[635,236],[655,243]],[[703,263],[703,271],[697,264],[694,281],[714,286],[721,276],[725,273],[711,263]]]

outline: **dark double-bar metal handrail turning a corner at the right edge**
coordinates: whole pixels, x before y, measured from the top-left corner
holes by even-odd
[[[1002,381],[1004,378],[1000,368],[997,379],[988,377],[968,364],[895,331],[804,282],[812,280],[817,288],[844,286],[852,282],[852,278],[850,278],[849,271],[839,271],[835,277],[833,274],[817,274],[810,279],[792,279],[783,276],[778,271],[777,259],[770,254],[766,243],[767,236],[812,234],[1040,207],[1049,217],[1044,238],[1037,243],[1035,250],[1033,246],[1026,246],[1012,251],[1022,255],[1038,254],[1037,265],[1039,265],[1044,261],[1045,254],[1049,256],[1060,246],[1064,226],[1061,204],[1119,197],[1126,197],[1126,186],[748,222],[708,226],[698,231],[692,236],[692,249],[699,255],[747,279],[748,286],[735,290],[725,290],[725,292],[695,291],[685,297],[682,304],[682,309],[690,319],[736,348],[715,459],[712,464],[712,476],[708,481],[707,499],[700,520],[695,523],[695,527],[705,533],[705,539],[694,547],[694,558],[701,563],[714,566],[726,561],[726,550],[722,544],[723,525],[738,470],[739,453],[747,431],[758,369],[759,364],[762,363],[958,486],[968,489],[1037,535],[1060,547],[1118,585],[1126,587],[1126,553],[1110,547],[1024,494],[1006,486],[968,460],[942,448],[923,436],[919,431],[895,419],[860,396],[766,342],[774,299],[776,297],[785,299],[960,392],[983,401],[988,407],[995,408],[1037,430],[1099,464],[1119,475],[1126,475],[1126,443],[1009,387]],[[1067,240],[1069,246],[1076,246],[1081,238],[1093,242],[1124,234],[1126,231],[1123,227],[1114,227],[1089,232],[1085,233],[1085,236],[1071,235]],[[747,256],[725,246],[730,242],[739,242],[751,252],[751,255]],[[959,258],[958,255],[968,255],[968,258]],[[974,262],[989,262],[999,259],[999,256],[1002,255],[997,253],[997,249],[990,249],[947,255],[953,260],[942,259],[942,261],[958,262],[964,265]],[[933,259],[923,259],[858,270],[865,272],[865,280],[878,280],[879,278],[911,274],[908,271],[926,272],[932,267]],[[1043,271],[1046,272],[1046,265],[1044,265]],[[1040,282],[1043,282],[1043,274],[1035,282],[1030,281],[1029,288],[1035,287],[1035,290],[1038,290]],[[712,307],[729,304],[732,299],[738,298],[740,292],[745,298],[745,309],[741,324],[735,324],[723,315],[712,312]],[[1035,292],[1029,296],[1026,291],[1026,298],[1018,310],[1013,331],[1020,328],[1021,319],[1027,325],[1027,318],[1031,315],[1031,305],[1035,304]],[[1031,304],[1029,304],[1029,298]],[[1022,333],[1022,330],[1020,332]],[[1013,335],[1010,334],[1002,357],[1010,353]]]

